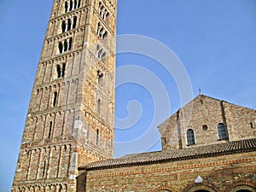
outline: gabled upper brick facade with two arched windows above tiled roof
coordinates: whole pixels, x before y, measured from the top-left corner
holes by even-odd
[[[256,112],[209,96],[197,96],[159,126],[163,150],[226,143],[255,137]],[[224,123],[228,139],[218,139],[218,124]],[[207,131],[203,130],[207,125]],[[187,130],[195,132],[195,145],[188,146]]]

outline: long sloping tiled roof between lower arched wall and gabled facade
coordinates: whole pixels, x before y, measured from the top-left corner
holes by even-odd
[[[130,154],[111,160],[96,161],[79,170],[99,170],[125,166],[141,166],[155,163],[165,163],[177,160],[191,160],[225,154],[239,154],[256,151],[256,138],[229,143],[219,143],[195,148],[183,148],[169,151],[157,151],[143,154]]]

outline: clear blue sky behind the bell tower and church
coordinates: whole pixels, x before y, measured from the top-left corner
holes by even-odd
[[[13,181],[26,110],[52,2],[0,1],[2,192],[9,191]],[[201,89],[204,95],[256,109],[255,0],[119,0],[117,20],[118,34],[148,36],[172,49],[189,74],[193,96],[197,96]],[[154,47],[151,49],[159,51]],[[119,125],[116,129],[116,143],[129,143],[142,137],[148,127],[154,125],[154,115],[158,116],[158,121],[164,120],[182,104],[177,79],[159,62],[145,55],[117,56],[118,68],[132,65],[148,69],[165,87],[170,100],[169,104],[166,101],[155,104],[155,101],[159,101],[152,95],[151,91],[154,90],[150,89],[157,89],[156,85],[136,84],[132,83],[132,79],[116,89],[116,117],[127,119],[129,112],[140,116],[133,126]],[[123,76],[117,74],[117,81]],[[142,75],[141,78],[147,79],[147,76]],[[126,110],[129,102],[130,111]],[[155,105],[163,104],[170,110],[155,114]],[[137,107],[142,110],[137,110]],[[153,137],[152,141],[141,141],[148,143],[147,148],[135,148],[132,144],[122,149],[117,147],[116,155],[160,150],[159,135]]]

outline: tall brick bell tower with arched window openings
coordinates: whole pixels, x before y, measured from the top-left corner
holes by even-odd
[[[55,0],[12,191],[76,191],[78,167],[113,158],[117,0]]]

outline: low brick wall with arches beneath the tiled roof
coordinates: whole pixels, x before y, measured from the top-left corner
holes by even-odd
[[[202,183],[195,183],[201,176]],[[86,192],[95,191],[236,191],[256,187],[256,154],[231,154],[147,166],[86,172]]]

